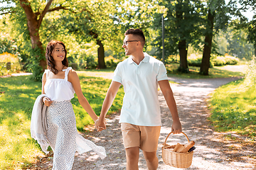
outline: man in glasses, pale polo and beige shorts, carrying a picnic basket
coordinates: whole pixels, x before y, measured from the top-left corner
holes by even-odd
[[[158,166],[156,150],[161,128],[158,84],[171,111],[171,130],[174,134],[181,133],[181,122],[164,64],[143,52],[144,33],[139,29],[129,29],[124,35],[122,47],[125,55],[130,57],[117,65],[100,118],[95,125],[98,131],[106,129],[105,116],[119,86],[123,85],[125,94],[119,123],[126,151],[127,170],[139,169],[139,149],[143,151],[149,170],[155,170]]]

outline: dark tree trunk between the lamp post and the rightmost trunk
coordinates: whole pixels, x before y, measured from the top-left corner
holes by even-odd
[[[178,70],[180,72],[188,72],[188,60],[187,60],[188,50],[187,50],[186,40],[178,41],[178,52],[180,55],[180,66]]]

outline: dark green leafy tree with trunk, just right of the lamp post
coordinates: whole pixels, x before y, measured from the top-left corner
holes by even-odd
[[[188,44],[198,46],[201,36],[201,1],[164,1],[161,5],[168,11],[164,13],[164,42],[167,55],[180,55],[179,71],[188,72]],[[160,29],[160,15],[156,15],[154,27]],[[155,45],[161,50],[161,35],[156,38]],[[160,52],[159,52],[160,54]]]

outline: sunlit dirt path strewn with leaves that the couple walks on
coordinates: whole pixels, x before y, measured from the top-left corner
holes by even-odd
[[[112,74],[109,75],[109,78]],[[107,77],[105,77],[107,78]],[[192,165],[188,169],[256,169],[256,143],[247,141],[246,137],[235,133],[218,133],[210,127],[206,99],[209,94],[218,86],[235,81],[238,78],[229,79],[176,79],[170,78],[179,84],[172,84],[178,113],[181,118],[183,132],[190,140],[196,142],[196,150],[193,154]],[[164,96],[159,91],[161,103],[161,118],[163,126],[159,137],[159,169],[176,169],[164,164],[161,159],[161,146],[166,136],[171,132],[171,117],[166,106]],[[82,134],[85,138],[94,141],[97,145],[104,146],[107,157],[104,160],[98,158],[94,152],[75,155],[73,169],[125,169],[126,159],[122,145],[122,134],[119,127],[119,113],[107,118],[107,130]],[[232,140],[231,140],[232,139]],[[171,135],[169,144],[177,142],[186,144],[186,137],[183,135]],[[38,162],[38,169],[50,169],[52,157],[42,159]],[[142,152],[140,152],[139,169],[146,169]]]

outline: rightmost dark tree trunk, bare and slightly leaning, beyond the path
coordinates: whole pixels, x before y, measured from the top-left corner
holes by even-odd
[[[201,67],[200,67],[200,74],[203,75],[209,75],[209,68],[210,68],[210,51],[212,47],[212,42],[213,42],[213,20],[214,20],[215,12],[213,13],[208,10],[208,22],[209,22],[209,28],[210,32],[206,33],[205,37],[205,45],[203,46],[203,58],[201,62]]]

